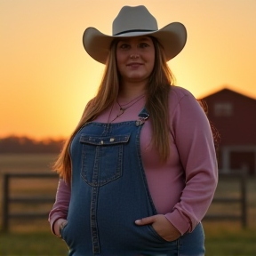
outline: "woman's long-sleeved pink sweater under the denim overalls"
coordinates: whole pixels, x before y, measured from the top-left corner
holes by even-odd
[[[191,232],[204,218],[217,186],[218,168],[212,132],[204,110],[187,90],[172,86],[169,100],[171,150],[168,161],[160,163],[152,138],[150,117],[140,136],[141,156],[148,180],[149,192],[156,211],[164,214],[181,234]],[[123,105],[127,102],[119,98]],[[142,98],[113,123],[137,120],[145,105]],[[108,123],[119,113],[116,104],[106,109],[95,122]],[[51,226],[66,219],[70,188],[60,180],[56,202],[49,215]]]

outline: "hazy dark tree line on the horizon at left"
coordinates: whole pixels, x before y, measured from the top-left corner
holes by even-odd
[[[0,139],[0,154],[59,154],[64,140],[33,140],[10,136]]]

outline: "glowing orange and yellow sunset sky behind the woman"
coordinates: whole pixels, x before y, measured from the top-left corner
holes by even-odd
[[[223,87],[256,99],[256,0],[0,0],[0,137],[66,137],[104,66],[84,51],[87,27],[111,35],[124,5],[146,5],[158,28],[180,21],[169,65],[196,98]]]

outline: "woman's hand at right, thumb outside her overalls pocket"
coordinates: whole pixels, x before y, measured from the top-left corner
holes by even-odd
[[[159,236],[162,236],[166,241],[174,241],[180,237],[180,231],[175,228],[172,223],[165,218],[163,214],[153,215],[141,220],[136,220],[135,223],[139,226],[152,224]]]

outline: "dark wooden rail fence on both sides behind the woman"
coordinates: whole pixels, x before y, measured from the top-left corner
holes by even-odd
[[[10,204],[53,204],[55,195],[50,197],[28,197],[28,196],[10,196],[10,180],[11,179],[29,179],[29,178],[47,178],[58,179],[58,176],[54,173],[4,173],[3,174],[3,210],[2,210],[2,231],[6,232],[9,229],[11,219],[44,219],[48,217],[49,212],[10,212]],[[204,220],[240,220],[243,227],[247,225],[247,205],[246,205],[246,176],[244,172],[235,174],[220,174],[219,180],[237,180],[240,183],[239,196],[238,197],[217,197],[213,198],[212,204],[240,204],[240,215],[235,214],[206,214]]]

